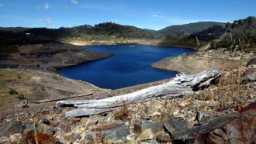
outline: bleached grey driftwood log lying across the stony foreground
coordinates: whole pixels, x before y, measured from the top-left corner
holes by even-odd
[[[220,70],[206,70],[199,74],[192,75],[177,74],[176,77],[165,84],[147,87],[130,94],[122,94],[111,98],[97,100],[57,101],[57,106],[77,107],[77,109],[67,111],[67,117],[96,115],[102,112],[111,111],[111,108],[148,101],[150,99],[171,99],[182,97],[185,94],[194,94],[196,90],[208,86],[219,76]]]

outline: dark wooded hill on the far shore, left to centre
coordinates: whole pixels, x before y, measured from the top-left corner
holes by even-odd
[[[29,36],[26,35],[29,33]],[[112,22],[104,22],[95,26],[83,25],[59,29],[47,28],[1,28],[0,43],[29,44],[44,43],[46,41],[95,40],[95,39],[140,39],[154,38],[147,30],[135,26],[123,26]]]

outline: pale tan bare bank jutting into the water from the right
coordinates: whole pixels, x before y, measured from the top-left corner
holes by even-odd
[[[229,52],[224,50],[207,50],[179,57],[167,57],[157,61],[152,67],[164,70],[176,70],[187,74],[196,74],[202,70],[232,69],[245,66],[253,53]]]

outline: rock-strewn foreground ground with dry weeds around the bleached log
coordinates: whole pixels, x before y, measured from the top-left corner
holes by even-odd
[[[253,59],[246,67],[223,70],[216,84],[193,95],[123,105],[102,115],[66,118],[64,113],[71,108],[37,106],[40,111],[33,112],[23,108],[15,115],[1,115],[0,142],[251,143],[256,134],[253,129],[256,126],[256,85],[255,79],[250,79],[254,67]],[[94,92],[85,98],[126,94],[166,81]],[[88,89],[82,88],[80,92],[88,92]]]

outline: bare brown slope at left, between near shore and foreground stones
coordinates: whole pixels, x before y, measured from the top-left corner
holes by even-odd
[[[61,77],[54,72],[40,69],[0,69],[0,114],[22,111],[19,106],[27,100],[27,111],[38,111],[47,105],[35,105],[33,101],[69,98],[76,94],[91,94],[103,91],[86,82]]]

